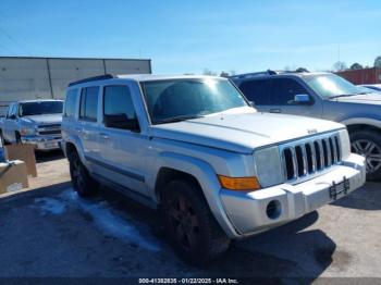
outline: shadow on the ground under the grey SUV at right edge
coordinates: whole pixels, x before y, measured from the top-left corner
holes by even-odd
[[[332,205],[368,211],[381,210],[381,184],[367,183],[360,189],[351,193]]]

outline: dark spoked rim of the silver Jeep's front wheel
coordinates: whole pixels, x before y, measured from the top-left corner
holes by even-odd
[[[185,250],[195,249],[199,240],[199,223],[188,200],[176,196],[169,209],[169,218],[176,239]]]

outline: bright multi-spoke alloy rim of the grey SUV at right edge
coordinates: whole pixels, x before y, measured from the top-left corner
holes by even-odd
[[[371,140],[357,139],[351,144],[352,150],[366,158],[367,173],[381,168],[381,148]]]

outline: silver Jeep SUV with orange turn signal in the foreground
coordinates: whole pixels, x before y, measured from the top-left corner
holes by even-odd
[[[81,196],[109,185],[158,208],[185,260],[247,237],[365,183],[345,126],[259,113],[229,79],[105,75],[70,84],[62,147]]]

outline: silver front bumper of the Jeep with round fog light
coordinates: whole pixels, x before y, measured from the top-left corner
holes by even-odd
[[[341,165],[295,185],[281,184],[250,193],[221,189],[220,197],[229,220],[244,237],[287,223],[334,201],[330,187],[342,183],[344,177],[348,181],[348,188],[336,199],[364,185],[365,159],[351,154]]]

